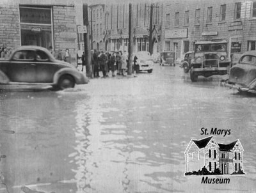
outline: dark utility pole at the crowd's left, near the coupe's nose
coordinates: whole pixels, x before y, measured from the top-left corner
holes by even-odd
[[[83,24],[88,28],[88,5],[83,4]],[[92,60],[91,60],[91,51],[90,51],[90,36],[87,33],[84,33],[84,52],[86,58],[86,76],[92,78]]]

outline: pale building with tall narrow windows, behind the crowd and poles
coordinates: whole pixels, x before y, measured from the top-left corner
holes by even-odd
[[[93,49],[98,50],[128,50],[128,24],[129,24],[129,3],[115,4],[95,4],[92,6],[92,12],[97,14],[99,10],[99,19],[92,16],[93,19]],[[102,16],[101,17],[101,11]],[[153,52],[159,52],[161,49],[161,23],[163,18],[163,3],[154,3],[153,9],[153,33],[152,45]],[[132,4],[132,22],[134,31],[134,52],[148,51],[148,35],[150,22],[150,4],[138,3]],[[98,26],[98,27],[97,27]],[[100,27],[101,26],[101,27]],[[97,33],[98,31],[98,33]],[[99,38],[101,37],[101,38]],[[98,47],[99,43],[99,47]],[[102,45],[104,43],[104,45]]]

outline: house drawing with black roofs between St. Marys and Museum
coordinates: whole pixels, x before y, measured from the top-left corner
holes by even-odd
[[[243,146],[239,139],[229,144],[217,143],[214,137],[191,139],[185,151],[186,173],[205,167],[209,172],[220,169],[221,174],[243,171]]]

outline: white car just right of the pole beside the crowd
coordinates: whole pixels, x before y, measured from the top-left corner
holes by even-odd
[[[134,59],[135,57],[137,58],[136,65],[134,66],[136,73],[140,71],[147,71],[148,73],[151,73],[153,71],[154,62],[149,52],[135,52],[134,54],[132,54],[132,58]]]

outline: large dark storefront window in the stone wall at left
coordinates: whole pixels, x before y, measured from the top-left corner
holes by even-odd
[[[52,8],[20,6],[21,45],[38,45],[49,48],[53,45]]]

